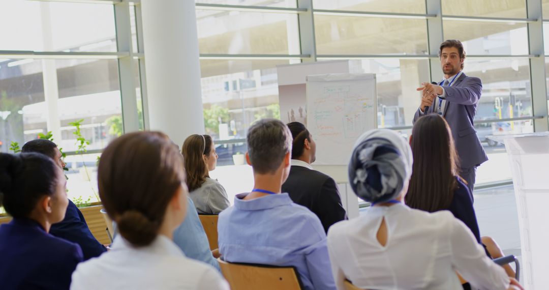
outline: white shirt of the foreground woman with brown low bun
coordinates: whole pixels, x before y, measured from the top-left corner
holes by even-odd
[[[159,235],[134,248],[121,236],[113,249],[80,263],[71,289],[229,289],[214,267],[187,258],[171,239]]]

